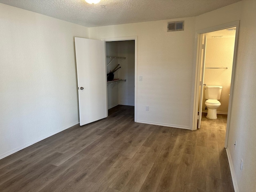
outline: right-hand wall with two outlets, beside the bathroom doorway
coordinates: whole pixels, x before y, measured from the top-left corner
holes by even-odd
[[[243,1],[228,137],[239,192],[256,189],[256,1]],[[234,150],[234,140],[237,141]],[[240,161],[244,160],[242,172]]]

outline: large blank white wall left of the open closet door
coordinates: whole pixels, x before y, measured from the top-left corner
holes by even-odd
[[[88,28],[0,4],[0,158],[78,119],[74,37]]]

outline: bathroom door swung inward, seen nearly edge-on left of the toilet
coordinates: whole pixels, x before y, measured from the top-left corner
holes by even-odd
[[[205,53],[206,53],[206,34],[202,34],[202,52],[201,52],[201,69],[200,69],[200,98],[199,98],[199,114],[198,114],[198,129],[201,127],[202,120],[202,102],[203,102],[203,90],[204,90],[204,65],[205,65]]]

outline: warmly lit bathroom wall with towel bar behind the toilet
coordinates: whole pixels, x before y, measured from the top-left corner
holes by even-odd
[[[208,36],[211,36],[210,33],[208,33]],[[228,114],[234,43],[235,37],[207,38],[206,42],[204,84],[222,86],[219,100],[221,106],[217,109],[217,113],[220,114]],[[207,67],[228,67],[228,69],[207,69]],[[205,110],[205,101],[205,92],[203,92],[202,109],[207,112]]]

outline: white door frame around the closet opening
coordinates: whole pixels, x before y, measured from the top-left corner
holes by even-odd
[[[129,41],[134,40],[135,44],[135,66],[134,66],[134,122],[137,122],[137,36],[102,38],[102,41]]]

